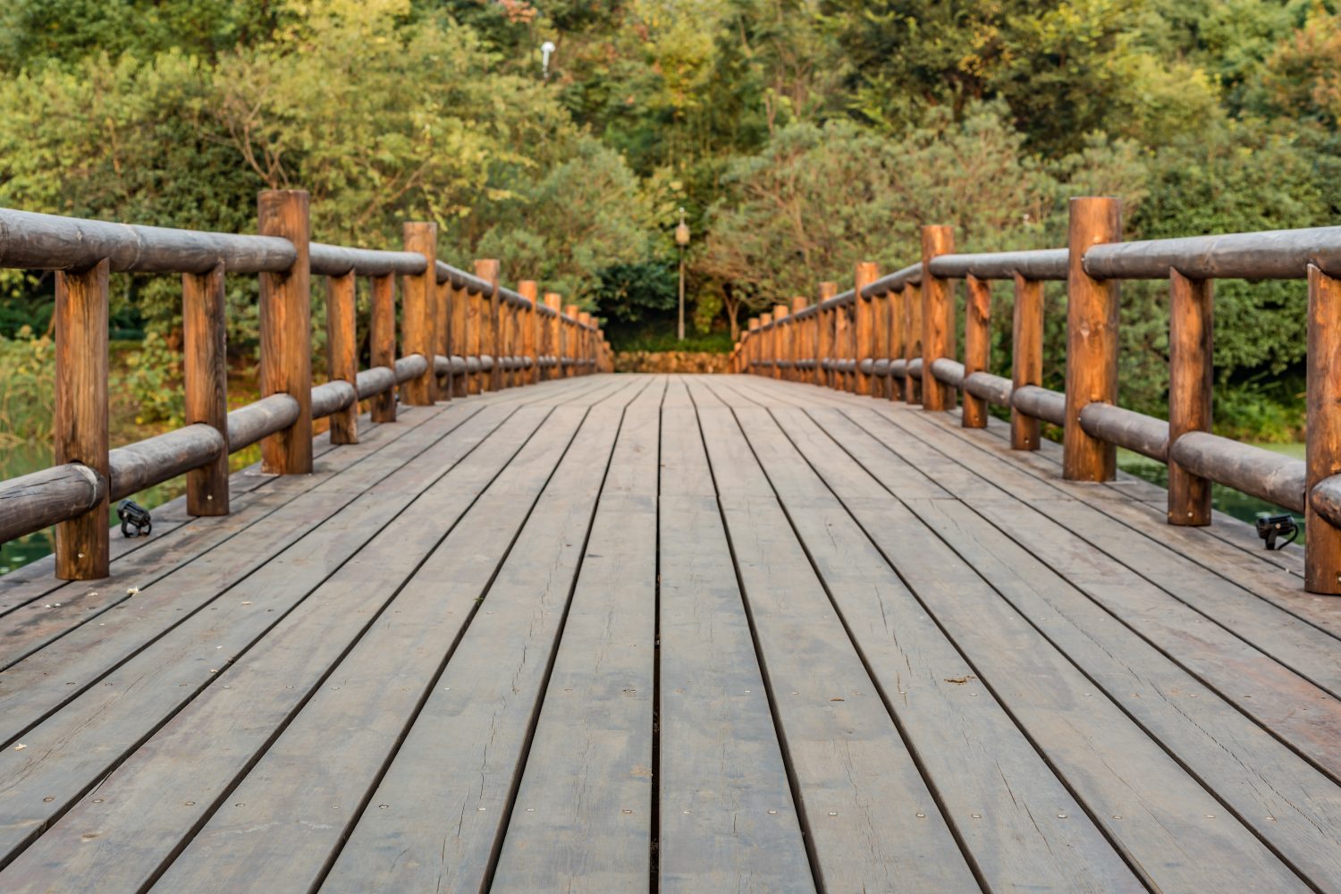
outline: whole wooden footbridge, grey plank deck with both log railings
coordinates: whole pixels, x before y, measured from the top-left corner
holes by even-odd
[[[919,264],[752,326],[754,375],[650,377],[429,225],[319,245],[300,193],[260,221],[0,212],[0,264],[62,271],[59,462],[0,485],[0,536],[59,523],[0,578],[0,890],[1341,890],[1341,228],[1124,245],[1112,200],[1062,249],[928,228]],[[184,273],[186,308],[190,425],[117,450],[109,269]],[[1116,283],[1157,269],[1168,421],[1116,402]],[[227,413],[217,298],[256,272],[266,393]],[[1232,276],[1309,279],[1306,464],[1207,430]],[[152,536],[106,537],[109,500],[182,472]],[[1212,480],[1306,513],[1307,550]]]

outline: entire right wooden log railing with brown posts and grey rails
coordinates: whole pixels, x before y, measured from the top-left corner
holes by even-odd
[[[987,425],[1010,409],[1011,446],[1033,450],[1039,421],[1063,430],[1063,476],[1116,477],[1116,446],[1168,464],[1168,521],[1211,521],[1211,483],[1305,516],[1305,587],[1341,594],[1341,227],[1121,243],[1116,198],[1073,198],[1066,248],[956,255],[948,227],[924,227],[921,260],[888,276],[857,264],[852,290],[819,285],[750,320],[732,370],[857,394],[955,407]],[[966,281],[956,359],[953,283]],[[1117,405],[1118,283],[1169,281],[1168,420]],[[1211,315],[1216,279],[1306,279],[1306,460],[1211,434]],[[991,283],[1015,290],[1011,378],[988,373]],[[1066,283],[1066,390],[1042,387],[1043,291]]]

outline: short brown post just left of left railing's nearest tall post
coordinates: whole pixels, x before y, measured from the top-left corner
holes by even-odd
[[[228,444],[228,354],[224,267],[181,277],[182,365],[186,425],[208,425]],[[228,515],[228,450],[186,473],[186,512]]]

